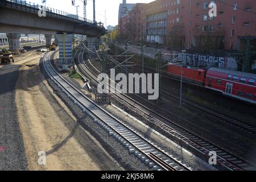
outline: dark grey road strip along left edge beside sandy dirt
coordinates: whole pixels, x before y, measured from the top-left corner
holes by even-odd
[[[0,171],[26,170],[22,134],[15,106],[15,84],[20,65],[0,69]]]

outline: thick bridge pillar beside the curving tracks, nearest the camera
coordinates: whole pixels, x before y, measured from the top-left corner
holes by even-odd
[[[72,56],[72,40],[73,33],[57,33],[56,39],[59,42],[59,55],[60,55],[60,67],[63,71],[68,71],[68,68],[72,66],[73,56]]]

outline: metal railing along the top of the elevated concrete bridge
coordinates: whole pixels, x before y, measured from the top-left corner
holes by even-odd
[[[35,3],[31,3],[29,1],[22,1],[22,0],[1,0],[0,5],[6,6],[6,7],[11,7],[14,9],[23,10],[23,11],[28,11],[28,12],[36,13],[36,14],[38,14],[39,10],[42,9],[42,7],[43,7],[43,5],[38,5]],[[101,22],[100,23],[93,22],[92,20],[82,18],[81,16],[67,13],[65,11],[52,9],[51,7],[46,7],[46,16],[70,20],[72,22],[88,23],[93,26],[103,27],[103,24]]]

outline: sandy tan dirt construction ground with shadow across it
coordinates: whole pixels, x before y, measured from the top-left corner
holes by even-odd
[[[15,85],[15,105],[27,169],[122,169],[101,144],[76,122],[75,116],[49,87],[39,68],[42,56],[43,53],[31,51],[16,58],[14,63],[20,65]],[[39,151],[46,152],[46,165],[38,164]]]

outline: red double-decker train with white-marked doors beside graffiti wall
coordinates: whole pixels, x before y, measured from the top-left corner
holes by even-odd
[[[168,65],[168,73],[180,79],[180,65]],[[256,105],[256,75],[220,68],[210,68],[207,71],[200,68],[183,66],[183,79],[205,88],[216,90],[238,100]]]

